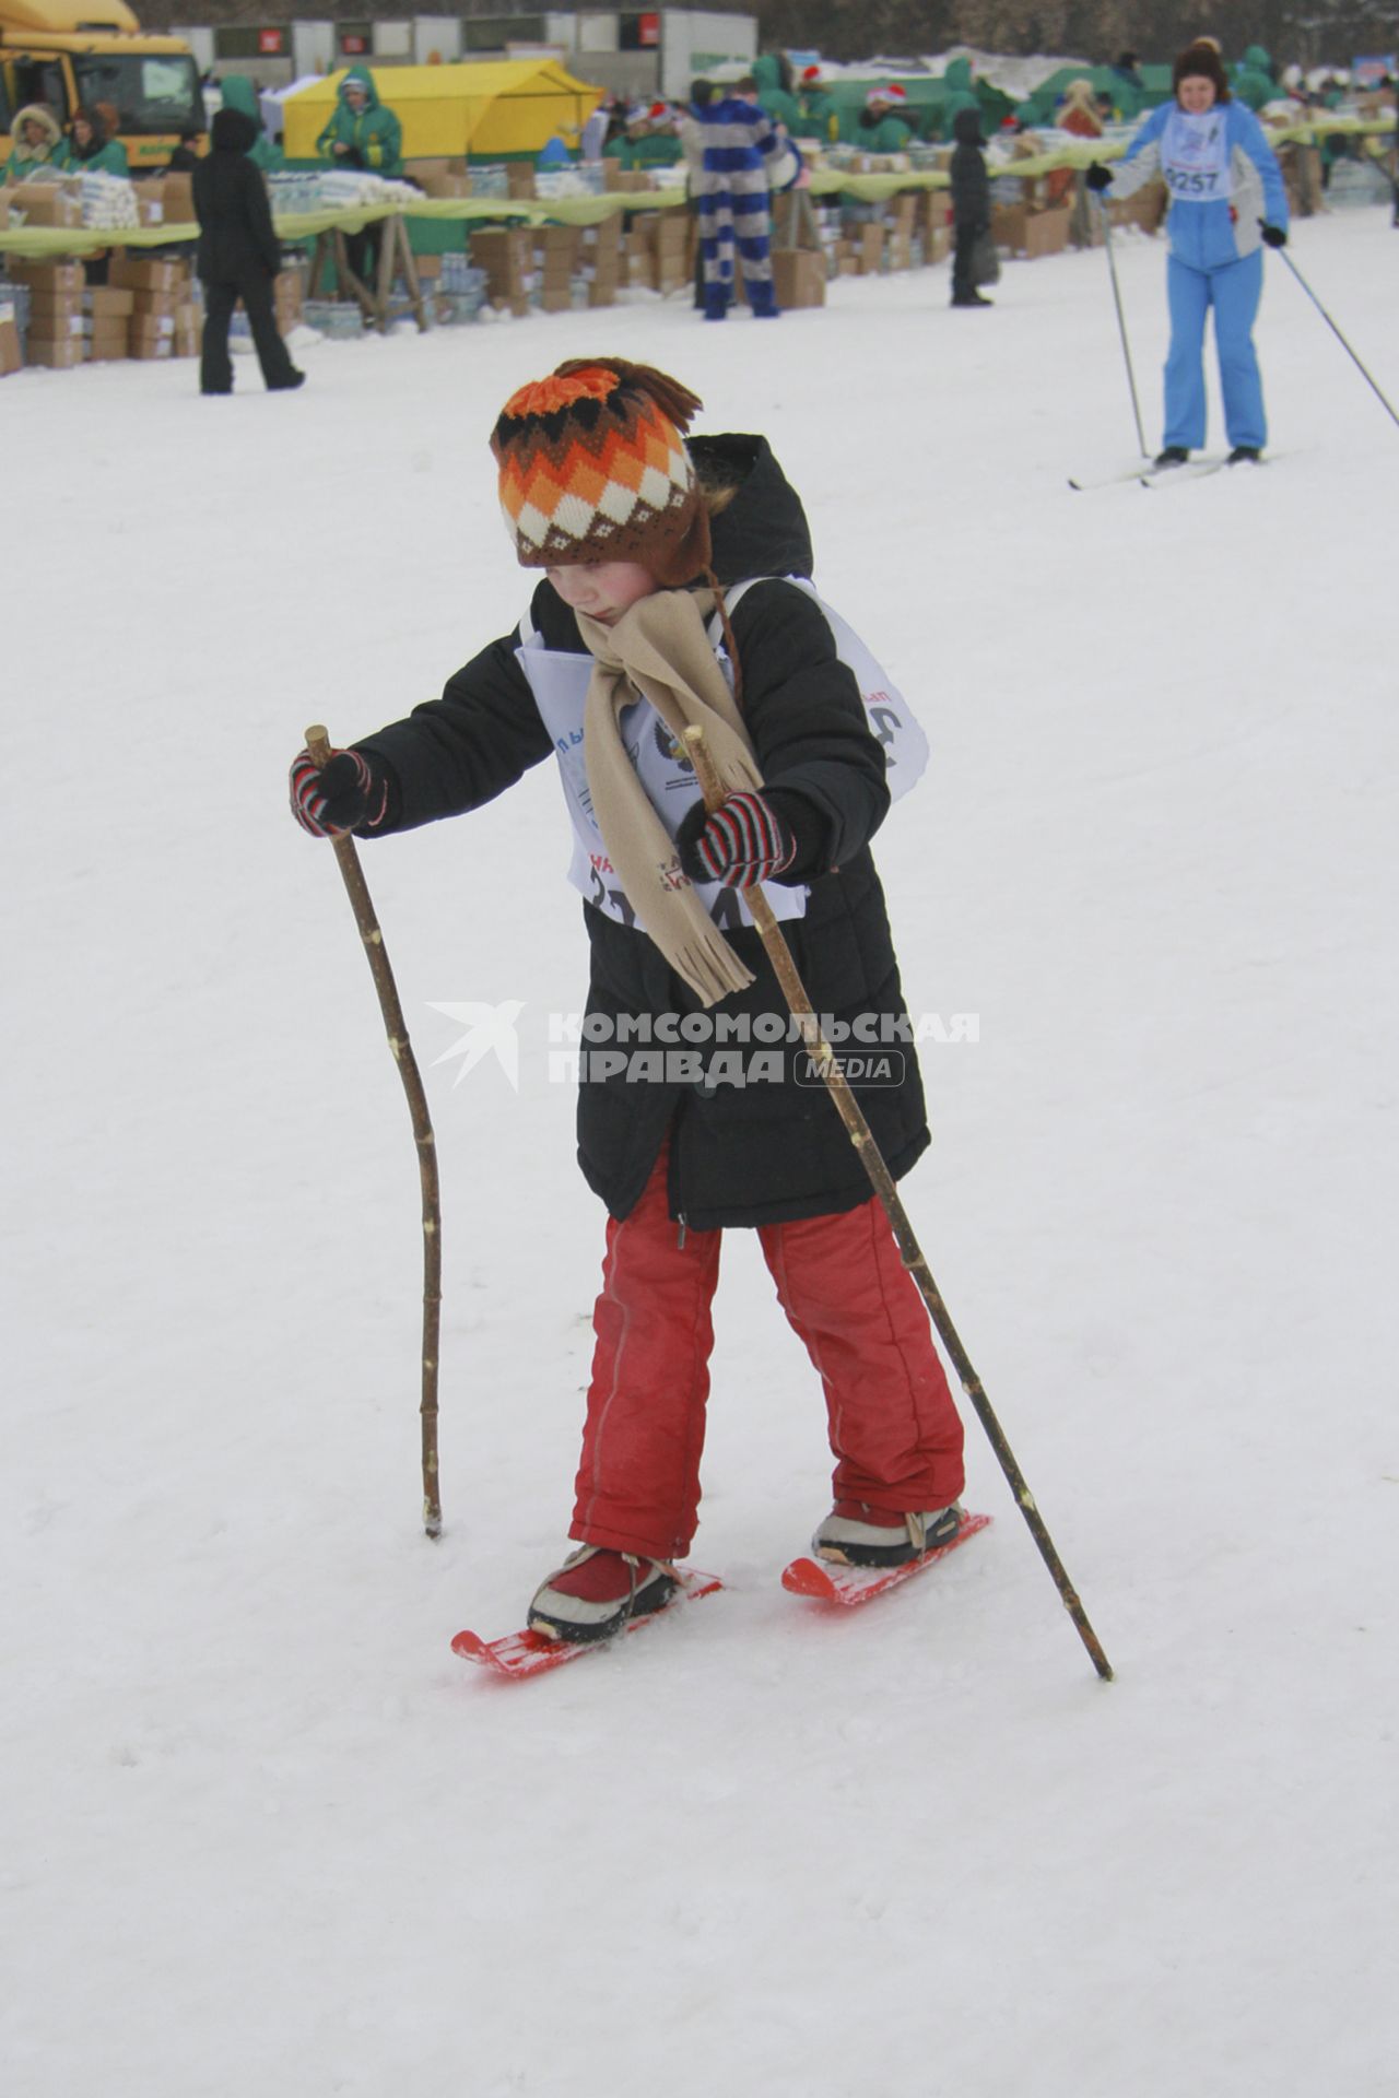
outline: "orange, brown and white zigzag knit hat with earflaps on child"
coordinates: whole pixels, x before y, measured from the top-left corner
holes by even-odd
[[[709,566],[709,512],[684,432],[701,401],[665,371],[573,357],[520,386],[491,432],[522,569],[636,560],[659,583]]]

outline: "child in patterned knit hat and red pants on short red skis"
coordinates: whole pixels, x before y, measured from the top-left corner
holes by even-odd
[[[522,386],[491,449],[520,564],[543,571],[529,613],[438,701],[323,768],[304,751],[292,768],[306,831],[384,837],[480,808],[556,757],[591,948],[585,1043],[701,1045],[583,1059],[579,1162],[608,1225],[579,1550],[531,1605],[537,1630],[568,1641],[606,1639],[675,1588],[730,1225],[757,1229],[826,1393],[835,1502],[814,1548],[898,1565],[961,1521],[963,1427],[923,1301],[784,1039],[742,906],[745,887],[772,885],[837,1039],[860,1024],[898,1043],[902,1076],[862,1087],[860,1104],[900,1177],[929,1135],[868,839],[891,780],[917,774],[917,732],[816,596],[805,516],[768,443],[686,443],[698,405],[623,359]],[[862,684],[879,692],[873,715]],[[696,724],[728,787],[713,814],[682,743]],[[724,1055],[703,1047],[709,1015]]]

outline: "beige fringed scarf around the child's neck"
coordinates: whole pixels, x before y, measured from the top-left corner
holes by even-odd
[[[761,787],[753,745],[705,631],[711,592],[659,590],[623,613],[617,625],[577,615],[594,657],[583,707],[583,762],[594,816],[606,854],[636,911],[671,969],[684,976],[701,1005],[753,982],[724,934],[690,887],[675,845],[646,799],[619,718],[638,692],[680,741],[703,728],[724,787]]]

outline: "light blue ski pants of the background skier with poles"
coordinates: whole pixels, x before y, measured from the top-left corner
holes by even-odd
[[[1170,350],[1166,352],[1166,434],[1162,443],[1200,451],[1204,445],[1204,317],[1214,308],[1219,384],[1231,445],[1267,445],[1263,380],[1252,325],[1263,296],[1263,250],[1221,269],[1166,260]]]

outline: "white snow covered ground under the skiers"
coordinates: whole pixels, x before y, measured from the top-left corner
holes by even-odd
[[[1399,401],[1389,214],[1292,252]],[[1156,438],[1162,248],[1120,271]],[[0,388],[8,2098],[1395,2092],[1399,430],[1269,258],[1275,464],[1074,495],[1135,455],[1103,256],[946,300]],[[283,776],[514,621],[493,415],[608,350],[772,436],[933,738],[879,862],[980,1039],[904,1194],[1112,1685],[971,1416],[984,1538],[780,1592],[828,1458],[740,1234],[726,1592],[535,1685],[449,1651],[558,1563],[587,1374],[558,787],[365,850],[443,1154],[430,1544],[409,1125]],[[510,999],[518,1093],[453,1085],[434,1005]]]

